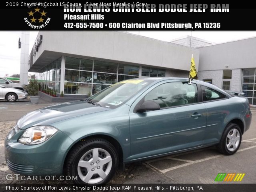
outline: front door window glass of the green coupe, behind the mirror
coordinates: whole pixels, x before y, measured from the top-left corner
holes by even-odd
[[[187,82],[165,83],[146,94],[144,101],[147,100],[157,102],[161,108],[197,103],[197,86]]]

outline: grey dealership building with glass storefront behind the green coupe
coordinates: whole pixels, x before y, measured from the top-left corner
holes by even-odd
[[[186,42],[186,41],[190,41]],[[118,31],[40,31],[28,57],[41,87],[84,98],[122,80],[188,77],[193,54],[198,79],[242,91],[256,105],[256,38],[213,44],[185,37],[164,42]]]

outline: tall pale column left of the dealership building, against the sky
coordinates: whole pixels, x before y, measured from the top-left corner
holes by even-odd
[[[20,83],[28,84],[28,49],[29,49],[29,31],[21,32],[21,52],[20,52]]]

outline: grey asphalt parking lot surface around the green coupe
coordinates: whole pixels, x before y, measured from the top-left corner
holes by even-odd
[[[31,104],[22,100],[15,103],[0,101],[0,183],[35,183],[26,180],[6,180],[6,174],[13,174],[4,159],[4,140],[16,120],[24,114],[53,103],[40,100]],[[242,136],[238,152],[232,156],[220,154],[214,147],[195,150],[182,154],[166,156],[145,162],[126,165],[124,172],[118,171],[111,183],[215,183],[218,173],[245,173],[239,183],[256,183],[256,108],[251,107],[252,124]],[[41,182],[41,181],[39,181]],[[68,183],[62,181],[61,183]],[[38,183],[38,181],[36,182]],[[60,181],[42,181],[41,183],[60,183]],[[234,182],[232,182],[234,183]],[[237,182],[236,182],[237,183]]]

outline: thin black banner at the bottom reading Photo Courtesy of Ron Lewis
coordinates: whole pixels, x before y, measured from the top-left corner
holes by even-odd
[[[1,192],[255,192],[256,184],[0,184]]]

